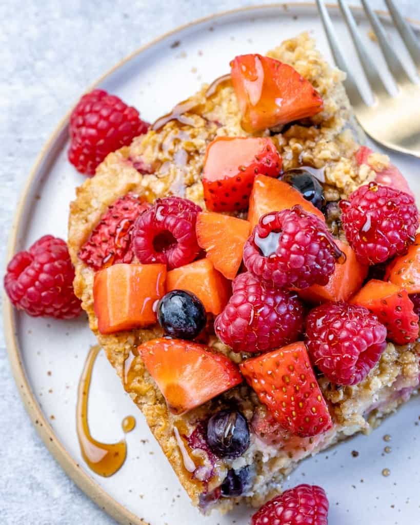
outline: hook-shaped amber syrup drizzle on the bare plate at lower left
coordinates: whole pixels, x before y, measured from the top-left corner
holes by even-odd
[[[88,424],[89,387],[93,365],[100,350],[101,347],[98,345],[91,347],[86,358],[85,366],[83,367],[82,375],[80,376],[77,393],[76,428],[81,454],[86,464],[93,472],[96,472],[96,474],[108,477],[115,474],[115,472],[122,467],[127,456],[127,444],[125,440],[111,444],[101,443],[90,434]],[[134,426],[132,428],[134,428]],[[129,432],[129,430],[127,432]]]

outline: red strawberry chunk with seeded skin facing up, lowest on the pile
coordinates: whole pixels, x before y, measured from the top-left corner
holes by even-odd
[[[302,342],[247,359],[239,365],[261,403],[286,430],[300,437],[316,436],[332,426]]]

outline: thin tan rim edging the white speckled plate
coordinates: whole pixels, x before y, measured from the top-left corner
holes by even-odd
[[[338,4],[327,3],[326,7],[338,10]],[[290,10],[293,8],[314,8],[316,9],[316,4],[314,2],[281,2],[281,3],[271,3],[264,5],[251,5],[245,7],[238,7],[235,9],[227,9],[218,13],[213,13],[201,18],[192,20],[186,24],[167,31],[166,33],[150,40],[148,43],[140,46],[135,49],[132,53],[119,60],[114,66],[108,69],[103,75],[101,75],[97,80],[91,83],[90,86],[86,88],[83,92],[89,92],[98,86],[104,79],[108,78],[113,74],[114,71],[119,69],[121,66],[132,60],[134,57],[142,54],[144,51],[152,48],[156,44],[159,44],[161,41],[165,40],[168,37],[174,36],[181,31],[202,24],[206,22],[211,22],[212,20],[217,20],[229,15],[236,15],[244,13],[247,11],[260,10],[261,12],[266,9],[284,9],[285,13],[290,13]],[[355,12],[363,13],[363,8],[359,6],[351,6],[352,10]],[[380,16],[390,19],[390,14],[384,10],[375,10]],[[411,25],[420,29],[420,20],[406,17],[405,18]],[[18,224],[24,213],[25,204],[28,200],[31,186],[35,180],[37,173],[41,170],[43,162],[47,160],[48,154],[51,151],[54,151],[53,146],[56,142],[59,141],[60,135],[62,135],[67,128],[68,120],[72,108],[69,109],[65,116],[58,122],[54,131],[50,134],[49,138],[41,148],[38,153],[34,164],[32,165],[29,175],[25,181],[22,191],[20,192],[18,202],[16,205],[16,212],[13,217],[12,227],[10,229],[10,234],[8,236],[8,243],[6,249],[6,264],[13,255],[16,253],[16,245],[18,241]],[[80,465],[71,457],[70,453],[61,444],[60,440],[57,438],[54,429],[49,424],[47,418],[44,416],[42,409],[40,408],[38,401],[35,397],[34,392],[31,389],[29,381],[26,376],[24,363],[20,353],[19,344],[17,342],[17,331],[15,323],[15,310],[12,307],[12,304],[6,296],[6,292],[3,290],[3,330],[6,342],[6,349],[8,354],[8,359],[10,367],[12,369],[14,381],[18,388],[20,398],[23,401],[26,412],[29,415],[31,422],[36,428],[38,435],[43,440],[50,454],[58,462],[60,467],[66,472],[72,481],[93,501],[95,502],[102,510],[106,511],[112,518],[117,520],[123,525],[151,525],[148,522],[145,522],[140,517],[133,514],[127,508],[125,508],[121,503],[114,499],[104,488],[102,488],[85,470],[83,470]]]

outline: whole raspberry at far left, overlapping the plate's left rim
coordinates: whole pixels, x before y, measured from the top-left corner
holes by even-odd
[[[4,287],[13,305],[30,316],[71,319],[81,312],[74,278],[65,241],[44,235],[9,262]]]

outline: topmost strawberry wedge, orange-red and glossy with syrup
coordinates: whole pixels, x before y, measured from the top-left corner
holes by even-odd
[[[230,62],[245,131],[272,128],[322,111],[319,93],[296,69],[274,58],[240,55]]]

